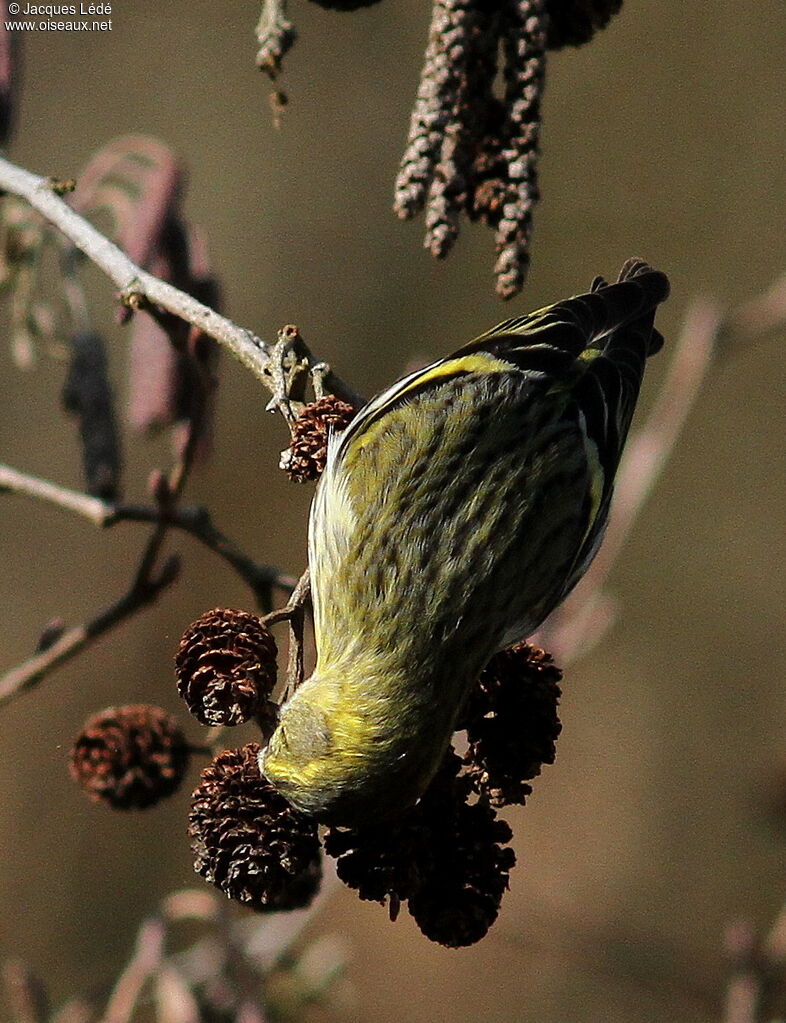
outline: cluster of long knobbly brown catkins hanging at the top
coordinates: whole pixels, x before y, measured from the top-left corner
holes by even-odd
[[[437,258],[452,248],[463,216],[492,227],[501,298],[518,294],[529,267],[547,50],[586,42],[620,5],[434,0],[393,208],[402,218],[425,208],[424,244]]]

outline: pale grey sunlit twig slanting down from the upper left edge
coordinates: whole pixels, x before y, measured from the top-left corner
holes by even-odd
[[[0,190],[27,199],[50,224],[57,227],[115,282],[120,290],[121,301],[129,308],[159,306],[191,323],[223,345],[265,387],[273,390],[270,347],[265,342],[133,263],[122,250],[54,193],[50,179],[31,174],[0,159]],[[310,352],[307,359],[309,365],[319,361]],[[335,373],[331,373],[329,386],[338,397],[350,403],[357,400],[352,389]]]

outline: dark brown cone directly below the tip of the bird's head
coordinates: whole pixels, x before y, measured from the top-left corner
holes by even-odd
[[[316,824],[260,773],[259,752],[225,750],[202,772],[188,815],[193,868],[255,909],[297,909],[321,880]]]

